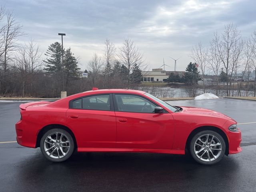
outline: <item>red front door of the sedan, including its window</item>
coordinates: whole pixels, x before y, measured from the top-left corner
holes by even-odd
[[[154,113],[153,101],[135,94],[113,94],[117,148],[171,149],[174,120],[170,113]]]

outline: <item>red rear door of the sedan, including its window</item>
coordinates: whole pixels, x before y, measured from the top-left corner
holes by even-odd
[[[110,95],[90,95],[70,101],[66,121],[78,148],[116,147],[116,116]]]

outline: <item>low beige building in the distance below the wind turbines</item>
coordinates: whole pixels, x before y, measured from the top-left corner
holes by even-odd
[[[179,74],[180,77],[184,75],[184,71],[164,71],[162,68],[152,69],[152,71],[142,71],[142,82],[166,82],[170,73]]]

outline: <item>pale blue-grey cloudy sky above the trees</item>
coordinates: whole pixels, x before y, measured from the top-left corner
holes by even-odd
[[[149,68],[185,70],[193,45],[208,46],[214,31],[233,22],[246,38],[256,28],[255,0],[1,0],[13,10],[42,52],[66,33],[64,47],[80,58],[82,69],[94,52],[102,55],[104,41],[117,48],[129,36],[144,54]]]

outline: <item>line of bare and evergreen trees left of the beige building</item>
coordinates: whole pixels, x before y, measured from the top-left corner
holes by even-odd
[[[104,54],[94,53],[87,70],[82,70],[79,58],[71,48],[59,42],[45,52],[30,40],[18,43],[26,33],[16,16],[0,7],[0,96],[59,97],[99,88],[130,88],[141,81],[146,63],[131,38],[125,38],[118,49],[106,40]],[[62,60],[63,56],[63,60]],[[88,72],[88,78],[82,78]]]

